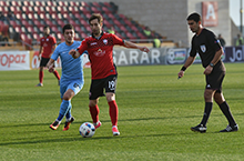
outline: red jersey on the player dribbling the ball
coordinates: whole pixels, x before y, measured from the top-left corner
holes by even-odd
[[[116,74],[113,63],[114,44],[123,46],[124,41],[115,34],[102,32],[99,39],[94,38],[94,36],[85,38],[78,48],[80,53],[85,50],[89,53],[93,80]]]

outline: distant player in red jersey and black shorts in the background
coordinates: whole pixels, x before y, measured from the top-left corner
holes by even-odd
[[[55,49],[55,38],[50,34],[50,28],[44,27],[43,29],[44,37],[41,38],[40,41],[40,50],[39,50],[39,60],[40,61],[40,70],[39,70],[39,83],[37,87],[43,87],[43,77],[44,77],[44,67],[49,62],[50,57],[52,56],[52,52]],[[59,72],[57,70],[53,71],[53,74],[58,80],[60,80]]]

